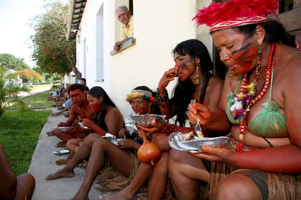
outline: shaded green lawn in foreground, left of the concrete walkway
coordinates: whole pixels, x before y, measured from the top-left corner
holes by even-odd
[[[5,112],[0,118],[0,143],[15,174],[28,171],[38,137],[47,121],[50,110],[19,110]]]

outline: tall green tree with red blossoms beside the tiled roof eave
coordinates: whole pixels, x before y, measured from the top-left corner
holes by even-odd
[[[69,4],[57,0],[43,7],[46,12],[31,19],[32,58],[43,72],[65,74],[76,63],[76,41],[65,36]]]

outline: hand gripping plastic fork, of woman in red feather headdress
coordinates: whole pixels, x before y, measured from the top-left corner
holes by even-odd
[[[206,123],[210,122],[213,118],[210,109],[201,103],[190,103],[188,107],[188,118],[193,124],[197,124],[196,115],[199,118],[201,126],[206,125]]]

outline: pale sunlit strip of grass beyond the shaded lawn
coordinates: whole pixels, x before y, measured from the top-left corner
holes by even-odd
[[[50,92],[51,89],[24,97],[23,100],[31,105],[31,108],[51,107],[53,103],[52,100],[47,100],[46,98],[50,96]],[[16,108],[16,106],[10,106],[10,108]]]

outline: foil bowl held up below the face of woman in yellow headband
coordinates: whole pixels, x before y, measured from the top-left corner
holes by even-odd
[[[159,114],[128,114],[129,117],[135,122],[140,125],[151,125],[153,121],[161,121],[166,122],[165,115]]]

